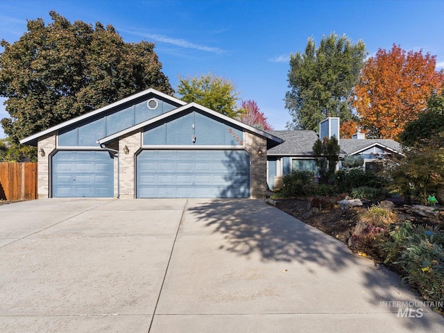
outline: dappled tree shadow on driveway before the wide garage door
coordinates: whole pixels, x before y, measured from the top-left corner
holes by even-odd
[[[224,234],[225,248],[237,255],[258,253],[263,261],[314,262],[338,271],[355,262],[340,241],[258,200],[211,200],[188,211]]]

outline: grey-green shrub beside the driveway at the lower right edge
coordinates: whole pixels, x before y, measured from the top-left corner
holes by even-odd
[[[425,300],[444,302],[443,246],[444,233],[438,228],[406,221],[391,232],[391,241],[383,244],[384,263],[400,268],[403,280],[418,289]]]

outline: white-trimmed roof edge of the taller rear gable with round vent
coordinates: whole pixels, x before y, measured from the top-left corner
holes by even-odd
[[[144,90],[143,92],[139,92],[137,94],[133,94],[133,95],[128,96],[128,97],[126,97],[124,99],[121,99],[120,101],[111,103],[109,105],[105,105],[103,108],[99,108],[97,110],[94,110],[94,111],[91,111],[91,112],[87,112],[87,113],[82,114],[82,115],[80,115],[80,116],[78,116],[76,118],[69,119],[68,121],[64,121],[62,123],[59,123],[56,126],[52,126],[50,128],[47,128],[46,130],[42,130],[39,133],[35,133],[33,135],[30,135],[29,137],[25,137],[24,139],[20,140],[20,143],[21,144],[33,144],[33,145],[36,145],[37,144],[37,139],[39,137],[42,137],[42,136],[44,136],[46,134],[49,134],[49,133],[52,133],[55,130],[60,130],[61,128],[65,128],[65,127],[70,126],[70,125],[72,125],[74,123],[78,123],[79,121],[83,121],[83,120],[88,119],[90,117],[94,117],[97,114],[101,114],[103,112],[112,110],[113,108],[117,108],[120,105],[123,105],[125,103],[130,102],[130,101],[133,101],[135,99],[139,99],[140,97],[147,96],[148,94],[155,94],[155,95],[159,96],[162,99],[166,99],[167,101],[171,101],[171,102],[176,103],[178,105],[185,105],[185,104],[187,104],[184,101],[181,101],[180,99],[176,99],[176,97],[172,97],[172,96],[169,96],[167,94],[164,94],[163,92],[159,92],[156,89],[149,88],[149,89]]]

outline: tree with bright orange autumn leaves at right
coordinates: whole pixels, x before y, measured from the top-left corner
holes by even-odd
[[[396,139],[407,123],[425,112],[427,99],[443,84],[436,57],[393,44],[368,58],[355,86],[356,108],[368,137]]]

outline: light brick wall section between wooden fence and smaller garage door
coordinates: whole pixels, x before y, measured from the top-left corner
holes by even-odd
[[[50,133],[40,137],[37,142],[37,198],[49,198],[49,163],[51,153],[56,150],[56,134]],[[44,156],[40,155],[40,149],[44,150]]]

